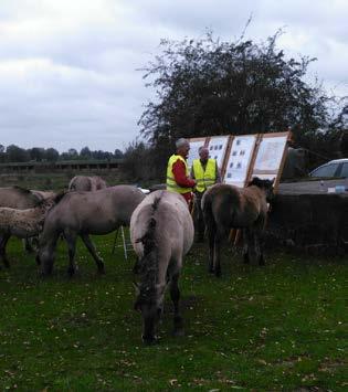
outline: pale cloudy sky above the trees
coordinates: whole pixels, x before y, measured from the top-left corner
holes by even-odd
[[[124,150],[154,91],[161,39],[262,42],[278,29],[288,57],[317,57],[329,94],[348,95],[347,0],[0,0],[0,145]]]

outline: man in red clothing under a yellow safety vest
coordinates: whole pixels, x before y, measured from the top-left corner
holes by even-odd
[[[176,142],[177,153],[173,153],[167,166],[167,190],[180,193],[188,205],[192,200],[192,190],[196,187],[196,181],[189,178],[189,168],[187,158],[190,150],[190,144],[187,139],[179,139]]]

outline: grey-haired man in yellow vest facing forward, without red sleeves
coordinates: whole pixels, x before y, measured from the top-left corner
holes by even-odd
[[[221,182],[221,176],[215,159],[209,158],[209,150],[200,147],[199,159],[193,160],[191,178],[196,179],[196,201],[194,201],[194,221],[198,232],[198,242],[204,240],[204,219],[201,209],[201,201],[207,189],[214,183]]]

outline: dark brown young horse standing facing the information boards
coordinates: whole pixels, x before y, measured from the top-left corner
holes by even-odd
[[[209,239],[209,271],[221,275],[220,247],[231,229],[243,229],[244,262],[264,264],[262,234],[267,218],[267,202],[273,198],[273,180],[254,178],[246,188],[215,184],[202,199]]]

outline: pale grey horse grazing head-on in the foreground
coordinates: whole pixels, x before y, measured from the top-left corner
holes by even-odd
[[[140,284],[135,284],[135,309],[143,316],[143,340],[156,341],[156,328],[164,308],[166,287],[175,306],[175,335],[183,335],[179,311],[178,280],[182,257],[193,242],[191,214],[182,195],[166,190],[150,193],[134,211],[130,220],[130,240],[138,256],[135,269]]]

